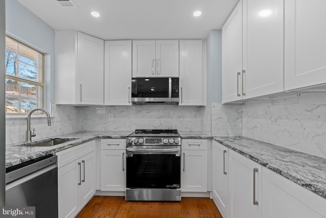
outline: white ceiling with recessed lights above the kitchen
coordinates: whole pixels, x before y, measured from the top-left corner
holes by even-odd
[[[221,29],[238,0],[17,0],[55,30],[77,30],[110,39],[205,39]],[[199,17],[193,16],[197,10]],[[100,17],[91,16],[91,11]]]

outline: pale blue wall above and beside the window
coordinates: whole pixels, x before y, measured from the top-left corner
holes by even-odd
[[[6,1],[6,33],[45,54],[45,107],[55,102],[55,30],[16,0]]]

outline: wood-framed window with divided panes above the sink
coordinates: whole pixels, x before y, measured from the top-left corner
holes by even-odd
[[[44,54],[6,36],[6,113],[44,108]]]

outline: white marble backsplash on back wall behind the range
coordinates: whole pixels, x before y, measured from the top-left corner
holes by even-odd
[[[177,129],[210,134],[204,122],[206,107],[176,105],[78,107],[77,125],[84,131]]]

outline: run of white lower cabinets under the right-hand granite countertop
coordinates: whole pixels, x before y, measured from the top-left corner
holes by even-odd
[[[212,198],[226,217],[326,217],[326,199],[213,141]]]

